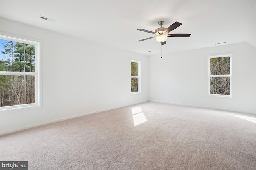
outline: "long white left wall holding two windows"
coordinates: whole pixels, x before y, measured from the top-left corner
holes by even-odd
[[[1,111],[0,134],[148,100],[148,57],[3,18],[0,23],[1,32],[42,40],[43,53],[42,108]],[[130,94],[130,59],[141,61],[141,94]]]

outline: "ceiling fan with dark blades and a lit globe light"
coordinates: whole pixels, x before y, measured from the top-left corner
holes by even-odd
[[[161,27],[156,29],[155,32],[148,31],[146,29],[137,29],[137,30],[157,35],[157,36],[154,36],[154,37],[156,37],[156,41],[160,42],[161,45],[166,44],[167,37],[189,37],[191,35],[191,34],[168,34],[170,31],[178,28],[182,23],[175,22],[172,25],[170,25],[170,27],[168,27],[168,28],[162,27],[162,25],[164,25],[164,21],[159,21],[158,24]],[[146,39],[141,39],[139,41],[144,41],[144,40],[151,39],[151,38],[154,38],[154,37],[150,37],[150,38],[146,38]]]

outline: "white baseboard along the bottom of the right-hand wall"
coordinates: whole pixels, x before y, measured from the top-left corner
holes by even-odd
[[[189,107],[198,107],[198,108],[204,108],[204,109],[214,109],[214,110],[220,110],[220,111],[228,111],[228,112],[238,113],[240,115],[248,115],[248,116],[256,117],[256,112],[251,112],[251,111],[230,110],[230,109],[223,109],[223,108],[216,108],[216,107],[198,106],[198,105],[192,105],[192,104],[164,102],[164,101],[158,101],[158,100],[148,100],[148,101],[149,102],[165,103],[165,104],[175,104],[175,105],[180,105],[180,106],[189,106]]]

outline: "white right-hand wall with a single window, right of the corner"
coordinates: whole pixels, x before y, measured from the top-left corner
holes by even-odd
[[[234,52],[233,98],[207,97],[206,55]],[[256,49],[247,43],[149,57],[149,100],[256,113]],[[202,98],[202,95],[204,98]]]

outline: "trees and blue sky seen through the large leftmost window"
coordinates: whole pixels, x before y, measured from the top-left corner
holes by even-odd
[[[0,71],[35,72],[35,46],[19,42],[3,43]],[[0,74],[0,107],[35,102],[35,77]]]

